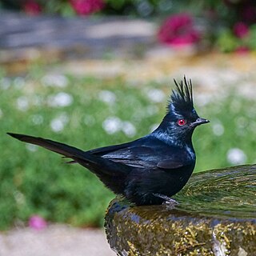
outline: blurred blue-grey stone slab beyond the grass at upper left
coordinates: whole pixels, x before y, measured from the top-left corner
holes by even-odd
[[[155,42],[153,22],[117,17],[62,18],[0,12],[0,62],[20,58],[141,55]]]

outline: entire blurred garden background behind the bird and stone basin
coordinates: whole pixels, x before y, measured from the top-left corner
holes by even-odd
[[[0,254],[111,255],[95,228],[114,194],[8,131],[83,150],[134,140],[186,75],[211,121],[195,172],[256,162],[255,22],[253,0],[0,1]],[[27,242],[38,235],[48,247]]]

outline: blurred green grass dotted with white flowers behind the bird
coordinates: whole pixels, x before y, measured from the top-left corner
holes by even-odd
[[[49,222],[102,226],[114,197],[82,166],[66,165],[59,155],[18,142],[6,132],[51,138],[82,150],[127,142],[161,122],[172,88],[172,81],[137,85],[121,77],[47,74],[40,66],[22,78],[2,74],[0,230],[27,222],[33,214]],[[197,94],[196,85],[194,89]],[[194,132],[196,172],[234,164],[227,158],[234,148],[243,152],[238,163],[255,162],[255,102],[230,92],[220,94],[200,106],[195,99],[198,114],[211,121]],[[61,106],[56,106],[58,101]],[[102,125],[106,119],[118,125],[113,134]]]

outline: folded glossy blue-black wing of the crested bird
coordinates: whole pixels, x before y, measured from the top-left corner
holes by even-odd
[[[100,155],[102,158],[113,162],[137,168],[171,170],[191,164],[191,159],[186,154],[186,151],[169,146],[157,138],[141,138],[137,141],[117,146],[106,146],[90,150],[90,153]]]

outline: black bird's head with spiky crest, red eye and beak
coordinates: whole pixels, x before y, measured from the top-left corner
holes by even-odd
[[[167,105],[167,113],[158,127],[158,132],[164,132],[171,138],[177,138],[181,142],[191,140],[194,128],[210,122],[200,118],[194,109],[192,82],[184,77],[183,81],[176,82],[176,88],[170,95]]]

